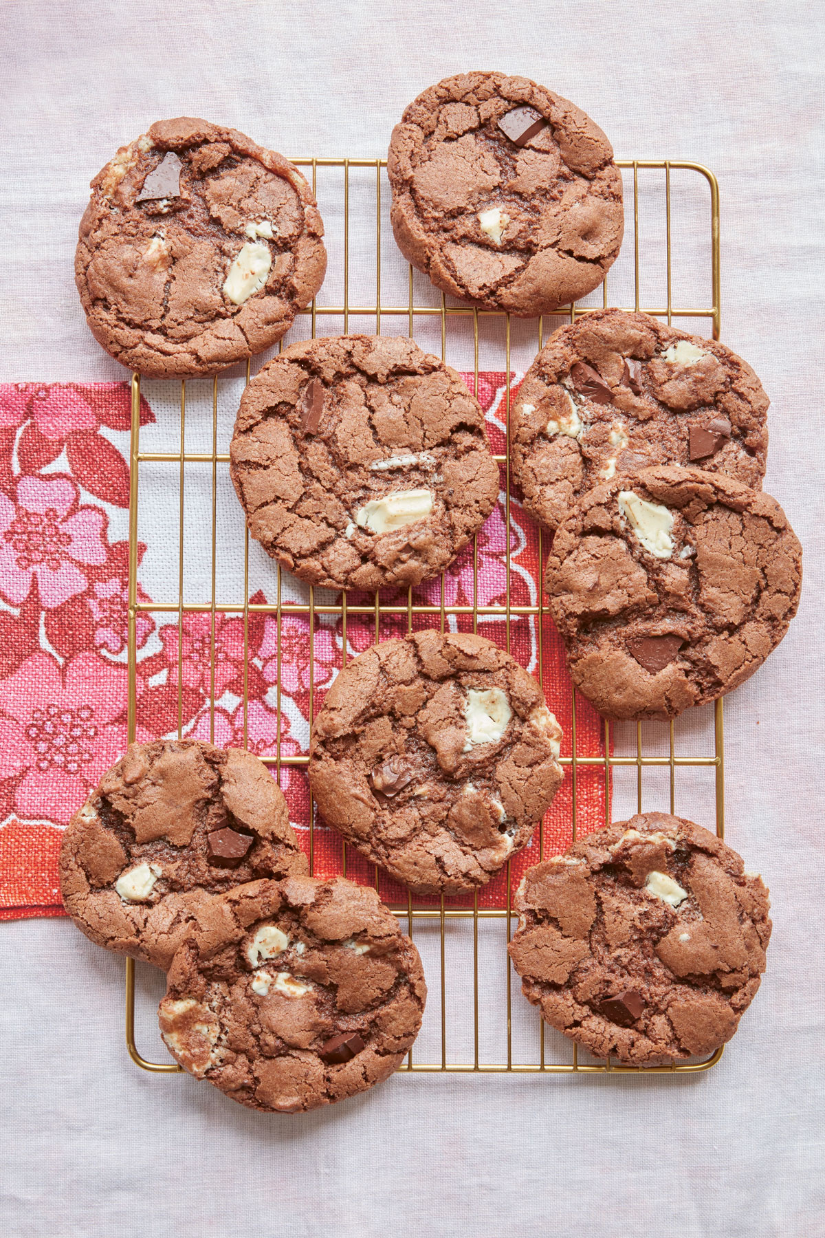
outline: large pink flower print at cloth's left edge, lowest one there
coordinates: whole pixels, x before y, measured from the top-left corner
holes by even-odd
[[[0,777],[22,775],[15,810],[63,823],[126,748],[125,666],[32,654],[0,680]],[[139,690],[142,683],[139,681]]]

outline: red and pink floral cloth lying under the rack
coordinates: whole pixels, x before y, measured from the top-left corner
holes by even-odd
[[[465,375],[472,386],[472,376]],[[505,451],[503,374],[479,375],[494,451]],[[142,426],[155,421],[142,401]],[[61,828],[126,744],[129,508],[126,383],[0,385],[0,919],[59,914],[57,853]],[[510,536],[502,498],[476,539],[440,581],[413,591],[416,604],[437,608],[413,626],[440,624],[438,608],[466,607],[444,617],[448,630],[474,626],[539,671],[534,617],[472,614],[479,607],[536,607],[541,579],[539,537],[518,495],[510,500]],[[156,536],[162,539],[163,529]],[[549,541],[549,539],[547,539]],[[139,565],[145,546],[139,545]],[[547,545],[543,547],[547,550]],[[137,599],[150,603],[139,586]],[[272,603],[257,592],[252,603]],[[353,605],[374,595],[351,594]],[[407,594],[386,591],[377,635],[407,630]],[[163,621],[168,620],[168,621]],[[558,638],[544,619],[543,686],[565,728],[569,751],[571,688]],[[312,639],[310,639],[312,635]],[[376,639],[374,615],[318,615],[310,634],[304,615],[250,610],[246,619],[187,612],[139,612],[136,644],[137,737],[193,735],[246,745],[260,756],[304,755],[313,712],[343,661]],[[278,655],[280,644],[280,655]],[[214,651],[214,657],[213,657]],[[244,695],[246,693],[246,706]],[[576,709],[580,753],[601,751],[601,729],[586,702]],[[563,749],[564,751],[564,749]],[[313,820],[306,768],[282,764],[280,780],[293,825],[312,831],[315,870],[340,872],[339,837]],[[604,775],[579,769],[579,827],[604,820]],[[545,849],[569,841],[570,787],[565,782],[543,826]],[[518,880],[538,858],[539,838],[512,865]],[[374,870],[351,851],[346,872],[374,881]],[[501,905],[501,875],[480,905]],[[385,898],[406,891],[381,877]]]

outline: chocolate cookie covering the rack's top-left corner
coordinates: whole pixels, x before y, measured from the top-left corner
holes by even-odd
[[[275,344],[322,285],[324,227],[282,155],[158,120],[92,182],[74,272],[95,339],[148,378],[216,374]]]

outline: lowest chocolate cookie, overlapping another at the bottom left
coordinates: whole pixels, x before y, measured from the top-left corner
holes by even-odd
[[[214,901],[213,922],[176,954],[158,1011],[184,1070],[277,1113],[334,1104],[397,1070],[427,988],[375,890],[293,877]]]

